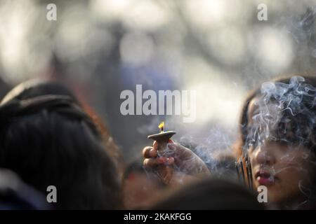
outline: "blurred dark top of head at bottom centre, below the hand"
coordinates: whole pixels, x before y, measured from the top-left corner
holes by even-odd
[[[206,179],[181,188],[152,209],[226,210],[264,209],[256,195],[237,183]]]

